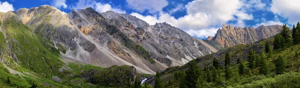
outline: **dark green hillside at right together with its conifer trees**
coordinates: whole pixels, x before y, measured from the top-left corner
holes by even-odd
[[[273,38],[167,68],[161,78],[167,88],[299,88],[300,44],[293,42],[291,34],[283,25]]]

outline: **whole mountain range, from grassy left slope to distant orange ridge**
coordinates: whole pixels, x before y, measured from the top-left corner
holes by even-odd
[[[39,75],[71,71],[64,65],[70,62],[103,68],[129,65],[137,73],[154,74],[224,47],[272,37],[281,28],[223,25],[214,37],[201,40],[166,22],[149,25],[135,16],[99,13],[90,7],[65,13],[49,5],[0,12],[0,21],[5,39],[1,62],[22,65]]]

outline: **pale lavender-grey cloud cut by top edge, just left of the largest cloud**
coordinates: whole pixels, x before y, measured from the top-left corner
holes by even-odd
[[[167,6],[166,0],[126,0],[128,6],[140,12],[148,10],[150,13],[161,11]]]

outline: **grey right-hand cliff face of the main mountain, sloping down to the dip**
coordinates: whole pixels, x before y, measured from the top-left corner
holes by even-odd
[[[148,26],[148,23],[131,15],[112,11],[100,14],[116,26],[120,25],[113,23],[115,21],[132,24],[134,27],[130,27],[130,24],[129,27],[123,24],[120,27],[121,31],[148,51],[153,59],[167,66],[183,65],[198,56],[213,52],[206,46],[208,44],[202,44],[200,40],[165,22]]]

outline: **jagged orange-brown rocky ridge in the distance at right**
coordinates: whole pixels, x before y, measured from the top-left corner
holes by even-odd
[[[214,37],[208,36],[208,42],[217,45],[217,48],[232,47],[238,44],[250,44],[261,39],[270,38],[280,32],[281,25],[261,25],[256,29],[253,27],[233,27],[223,25]]]

